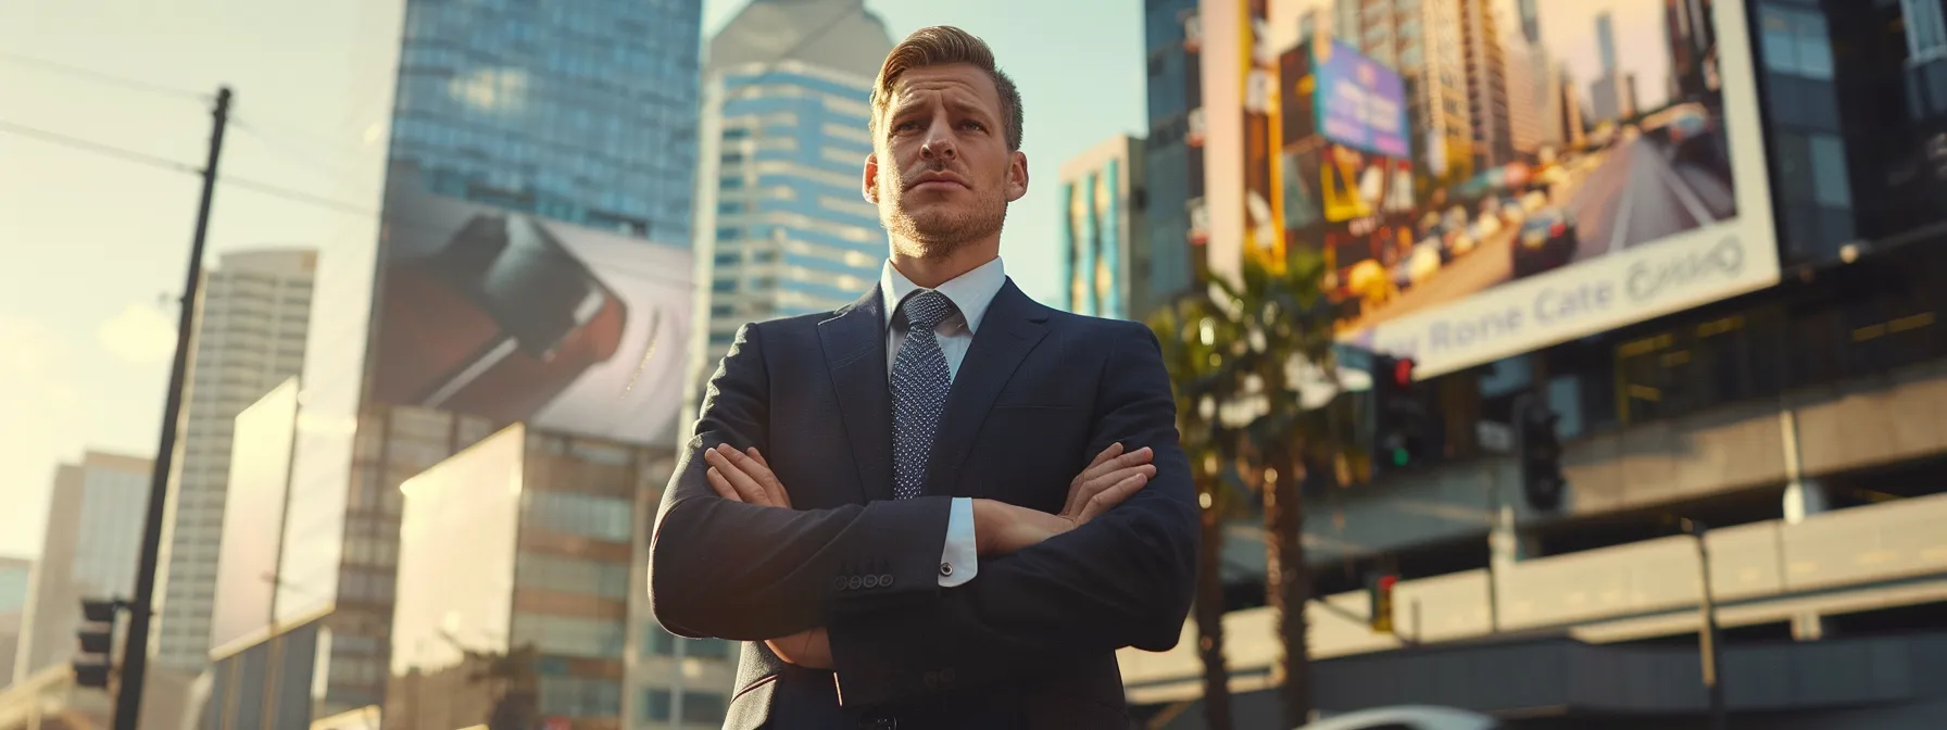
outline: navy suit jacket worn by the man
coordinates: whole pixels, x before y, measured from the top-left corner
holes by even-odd
[[[1009,280],[954,378],[919,498],[892,496],[884,304],[746,325],[711,378],[650,547],[656,619],[744,640],[726,728],[1127,728],[1116,650],[1176,646],[1195,493],[1141,323],[1049,310]],[[1114,442],[1157,475],[1069,533],[938,586],[954,496],[1061,512]],[[724,500],[701,450],[755,446],[792,510]],[[835,672],[765,639],[827,627]]]

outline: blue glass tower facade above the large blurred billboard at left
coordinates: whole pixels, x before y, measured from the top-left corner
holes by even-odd
[[[411,0],[391,160],[440,195],[689,243],[701,0]]]

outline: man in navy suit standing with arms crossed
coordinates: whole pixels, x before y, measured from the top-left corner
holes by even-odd
[[[726,728],[1127,728],[1116,650],[1174,646],[1195,572],[1157,339],[1007,278],[1028,164],[985,43],[900,43],[870,130],[880,286],[738,333],[662,498],[656,617],[746,640]]]

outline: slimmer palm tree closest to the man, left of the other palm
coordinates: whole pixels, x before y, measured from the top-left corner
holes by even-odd
[[[1232,491],[1225,489],[1225,467],[1236,454],[1236,438],[1215,419],[1217,403],[1229,399],[1232,382],[1223,350],[1234,333],[1219,333],[1223,321],[1209,298],[1190,296],[1149,317],[1162,345],[1162,362],[1176,385],[1176,430],[1197,489],[1201,533],[1197,541],[1197,656],[1203,660],[1203,722],[1211,730],[1231,730],[1231,672],[1223,656],[1223,526],[1234,512]]]

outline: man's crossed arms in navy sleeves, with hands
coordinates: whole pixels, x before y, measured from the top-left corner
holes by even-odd
[[[1176,644],[1190,609],[1195,506],[1170,385],[1147,329],[1141,341],[1121,341],[1096,393],[1092,448],[1125,444],[1127,454],[1096,465],[1114,463],[1108,473],[1084,471],[1057,516],[975,502],[979,576],[944,590],[935,570],[948,498],[829,510],[744,498],[757,485],[753,471],[769,471],[759,333],[738,335],[664,494],[650,551],[650,594],[664,627],[767,640],[787,660],[827,664],[847,705],[935,689],[921,675],[979,683],[1049,652]],[[1131,489],[1135,473],[1143,479]],[[1090,491],[1098,508],[1077,508],[1077,496]],[[1118,496],[1125,498],[1120,506],[1112,504]],[[859,576],[876,580],[859,590]]]

